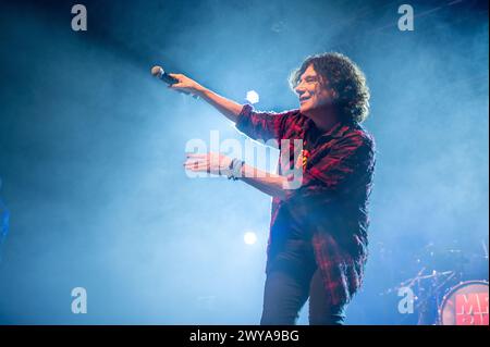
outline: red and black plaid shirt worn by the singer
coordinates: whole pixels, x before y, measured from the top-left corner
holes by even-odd
[[[302,185],[286,198],[272,199],[268,265],[284,235],[295,223],[311,241],[317,265],[332,305],[348,302],[359,288],[367,258],[367,205],[375,170],[375,142],[357,123],[338,123],[321,133],[298,110],[256,112],[246,104],[236,127],[253,139],[302,139],[306,160]],[[279,163],[279,174],[294,165]]]

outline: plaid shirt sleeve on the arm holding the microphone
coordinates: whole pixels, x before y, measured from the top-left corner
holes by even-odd
[[[245,104],[236,120],[236,128],[255,140],[280,140],[284,136],[284,123],[291,112],[257,112]]]

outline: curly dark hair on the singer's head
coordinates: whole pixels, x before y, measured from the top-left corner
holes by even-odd
[[[369,114],[369,88],[366,84],[366,76],[360,69],[347,57],[328,52],[310,55],[305,59],[299,69],[293,71],[290,76],[290,86],[294,88],[299,84],[299,78],[313,65],[315,72],[319,74],[328,87],[336,95],[334,104],[344,121],[355,121],[362,123]]]

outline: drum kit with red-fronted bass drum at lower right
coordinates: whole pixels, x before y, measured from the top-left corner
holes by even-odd
[[[416,262],[421,267],[418,273],[383,294],[411,288],[419,325],[488,326],[488,278],[468,280],[470,272],[467,270],[468,265],[474,268],[478,263],[478,267],[486,267],[485,275],[488,277],[488,250],[485,241],[482,248],[483,255],[465,256],[457,249],[436,250],[433,244],[429,244],[416,255]]]

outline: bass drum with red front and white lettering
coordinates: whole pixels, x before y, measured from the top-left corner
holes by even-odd
[[[441,325],[488,325],[488,282],[467,281],[452,287],[439,309]]]

